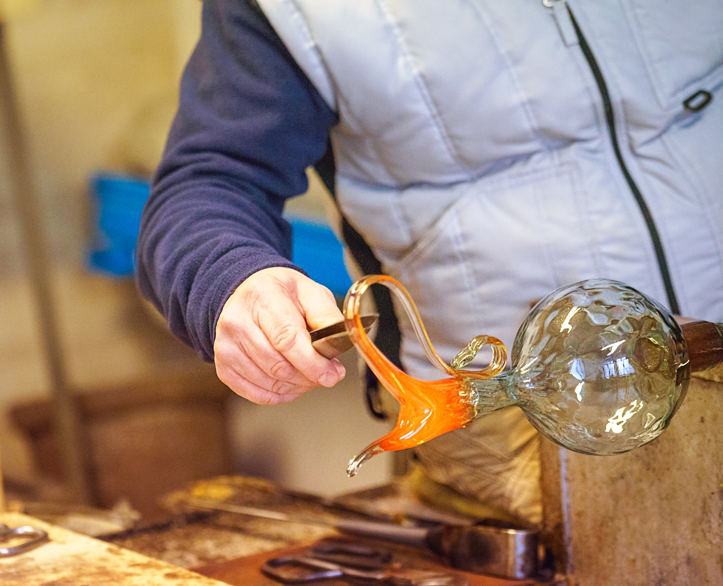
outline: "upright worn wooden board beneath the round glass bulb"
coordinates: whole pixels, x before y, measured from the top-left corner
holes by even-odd
[[[723,585],[722,369],[628,454],[542,448],[545,531],[579,586]]]

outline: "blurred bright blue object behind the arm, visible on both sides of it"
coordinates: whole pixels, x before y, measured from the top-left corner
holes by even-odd
[[[150,183],[138,177],[99,173],[91,179],[95,216],[87,252],[90,271],[118,279],[133,276],[140,216],[149,195]],[[294,264],[338,297],[346,295],[351,279],[344,266],[343,247],[333,230],[307,218],[286,219],[292,229]]]

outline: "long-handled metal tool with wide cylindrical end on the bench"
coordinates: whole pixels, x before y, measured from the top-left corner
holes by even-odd
[[[450,567],[474,574],[525,579],[538,576],[541,569],[539,532],[529,527],[517,527],[492,519],[464,527],[455,525],[401,527],[393,523],[360,519],[328,520],[317,516],[289,515],[200,498],[189,498],[185,502],[203,509],[332,527],[348,535],[427,548],[442,557]]]

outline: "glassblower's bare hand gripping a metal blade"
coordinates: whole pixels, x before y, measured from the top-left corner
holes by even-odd
[[[218,378],[259,404],[286,403],[317,386],[334,386],[346,370],[312,347],[309,330],[342,318],[332,292],[299,271],[258,271],[228,298],[218,318]]]

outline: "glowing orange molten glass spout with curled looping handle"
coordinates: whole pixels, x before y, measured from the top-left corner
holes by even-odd
[[[419,381],[403,373],[369,340],[361,326],[361,295],[370,285],[381,283],[391,289],[401,301],[411,318],[424,352],[439,370],[453,378],[441,381]],[[505,345],[491,336],[477,336],[470,342],[469,349],[458,354],[460,366],[474,357],[485,344],[492,347],[492,362],[484,370],[455,370],[439,357],[424,329],[422,318],[408,292],[390,276],[373,275],[357,281],[349,289],[344,302],[344,320],[351,341],[377,375],[377,378],[399,402],[397,425],[386,436],[367,446],[364,451],[349,462],[348,475],[354,476],[359,466],[367,459],[382,451],[413,448],[448,431],[462,428],[476,417],[474,386],[469,379],[492,378],[502,372],[507,361]],[[466,355],[469,359],[466,360]]]

